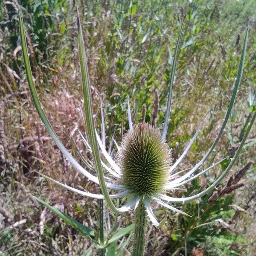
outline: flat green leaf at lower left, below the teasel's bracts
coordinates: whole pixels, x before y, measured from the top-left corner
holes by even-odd
[[[73,218],[71,218],[67,214],[65,214],[65,213],[59,211],[58,209],[52,207],[51,205],[47,204],[45,201],[43,201],[43,200],[41,200],[41,199],[39,199],[39,198],[37,198],[35,196],[34,196],[34,198],[38,202],[43,204],[45,207],[47,207],[50,211],[52,211],[53,213],[58,215],[58,217],[63,219],[67,224],[69,224],[74,229],[79,231],[79,233],[81,233],[82,235],[86,236],[88,239],[90,239],[95,244],[97,244],[97,241],[94,239],[94,230],[93,229],[91,229],[90,227],[86,227],[86,226],[82,225],[81,223],[79,223],[78,221],[74,220]]]

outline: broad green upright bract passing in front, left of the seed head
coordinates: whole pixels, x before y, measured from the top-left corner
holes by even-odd
[[[85,122],[86,122],[86,130],[87,137],[89,140],[89,144],[92,150],[93,163],[95,165],[95,169],[97,175],[99,177],[99,185],[102,190],[102,194],[108,204],[108,207],[116,213],[119,213],[118,209],[114,206],[111,198],[108,194],[108,189],[105,184],[104,174],[101,165],[101,159],[99,156],[99,148],[96,139],[96,132],[94,128],[93,122],[93,110],[92,110],[92,100],[91,100],[91,91],[90,91],[90,81],[89,81],[89,73],[86,63],[85,57],[85,49],[84,49],[84,39],[82,34],[82,28],[80,23],[80,17],[78,13],[77,18],[77,26],[78,26],[78,47],[79,47],[79,60],[80,60],[80,69],[81,69],[81,79],[82,79],[82,87],[83,87],[83,96],[84,96],[84,111],[85,111]]]

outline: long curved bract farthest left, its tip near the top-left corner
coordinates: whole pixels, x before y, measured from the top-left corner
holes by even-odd
[[[89,172],[87,172],[75,159],[74,157],[67,151],[67,149],[64,147],[64,145],[61,143],[60,139],[56,135],[55,131],[53,130],[49,120],[47,119],[46,114],[44,113],[44,110],[41,106],[41,103],[38,98],[37,91],[35,89],[35,84],[32,78],[32,71],[30,67],[30,62],[29,62],[29,55],[28,55],[28,49],[27,49],[27,44],[26,44],[26,36],[25,36],[25,29],[24,29],[24,24],[23,24],[23,19],[22,15],[20,12],[20,9],[18,8],[18,13],[19,13],[19,28],[20,28],[20,41],[21,41],[21,48],[22,48],[22,55],[24,59],[24,64],[25,64],[25,70],[26,70],[26,77],[28,80],[29,84],[29,90],[31,92],[31,96],[35,105],[35,108],[41,117],[42,122],[44,123],[45,127],[47,128],[47,131],[49,132],[50,136],[60,149],[60,151],[67,157],[67,159],[73,164],[73,166],[81,172],[85,177],[87,177],[89,180],[92,180],[93,182],[99,184],[99,180],[97,177],[91,175]]]

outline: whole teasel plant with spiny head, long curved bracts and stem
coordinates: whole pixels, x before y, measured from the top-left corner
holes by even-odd
[[[81,30],[81,23],[78,17],[78,46],[79,46],[79,59],[80,59],[80,68],[81,68],[81,80],[82,80],[82,89],[84,96],[84,112],[85,112],[85,123],[86,123],[86,135],[83,135],[80,131],[81,140],[84,141],[84,144],[87,146],[88,150],[91,152],[93,163],[90,160],[86,160],[85,164],[86,168],[82,167],[69,153],[69,151],[64,147],[61,143],[55,131],[53,131],[52,126],[47,119],[47,116],[44,113],[43,108],[41,107],[41,103],[38,99],[38,95],[35,89],[35,84],[32,79],[31,67],[29,64],[29,56],[26,45],[26,37],[24,32],[23,20],[19,10],[19,21],[20,21],[20,38],[22,45],[23,58],[26,69],[26,76],[29,84],[29,88],[32,94],[32,99],[35,104],[35,107],[38,111],[39,116],[42,119],[45,127],[47,128],[49,134],[52,139],[55,141],[58,148],[61,152],[67,157],[67,159],[73,164],[74,168],[81,172],[88,180],[92,180],[96,184],[99,184],[102,194],[93,194],[90,192],[84,192],[79,189],[75,189],[73,187],[67,186],[66,184],[62,184],[56,180],[51,179],[50,177],[46,177],[49,180],[52,180],[54,183],[68,189],[72,192],[78,193],[79,195],[87,196],[90,198],[97,199],[105,199],[108,207],[114,213],[120,213],[129,211],[134,209],[134,225],[131,225],[131,228],[123,229],[117,232],[113,237],[108,238],[108,240],[104,239],[104,229],[103,224],[101,222],[100,230],[99,230],[99,241],[94,237],[94,231],[89,227],[85,227],[79,224],[77,221],[73,220],[67,215],[62,214],[58,210],[50,207],[44,201],[37,198],[42,204],[47,206],[49,209],[54,211],[58,216],[64,219],[67,223],[72,225],[74,228],[79,230],[82,234],[86,235],[91,241],[93,241],[99,248],[107,247],[111,242],[118,240],[121,236],[130,232],[132,229],[134,230],[134,239],[133,239],[133,251],[132,255],[143,255],[144,247],[145,247],[145,232],[148,223],[148,219],[155,226],[160,226],[161,223],[158,222],[154,212],[151,208],[151,203],[153,201],[157,202],[160,206],[166,207],[174,212],[180,212],[181,214],[186,214],[182,212],[180,209],[177,209],[176,206],[172,206],[172,203],[185,203],[188,201],[192,201],[200,198],[206,193],[210,192],[214,189],[218,183],[223,180],[227,172],[230,171],[232,166],[234,165],[236,159],[239,156],[239,153],[245,143],[245,140],[252,128],[253,122],[256,118],[256,112],[253,114],[250,124],[246,132],[244,133],[243,140],[239,145],[239,148],[236,150],[233,158],[230,160],[227,168],[221,172],[216,180],[209,185],[206,189],[199,192],[198,194],[175,198],[169,195],[166,195],[166,192],[171,193],[173,189],[180,189],[183,185],[198,178],[200,175],[203,175],[205,172],[214,168],[221,161],[214,163],[212,166],[209,166],[207,169],[199,170],[199,167],[207,160],[209,155],[214,150],[217,145],[224,128],[227,124],[227,121],[230,117],[231,110],[233,108],[236,93],[239,89],[239,84],[241,82],[243,69],[244,69],[244,60],[245,53],[247,47],[247,37],[248,37],[248,29],[245,35],[244,45],[241,52],[241,59],[239,64],[239,70],[236,77],[236,82],[233,88],[233,93],[230,99],[229,106],[227,108],[227,113],[224,118],[224,121],[221,125],[221,128],[218,132],[218,136],[213,141],[211,147],[208,151],[203,155],[201,160],[189,171],[183,172],[183,175],[177,175],[175,173],[175,169],[177,168],[180,161],[185,157],[188,153],[189,148],[192,143],[196,140],[198,134],[201,131],[203,124],[198,128],[195,135],[192,137],[188,145],[186,145],[184,152],[180,155],[180,157],[172,162],[172,154],[171,150],[166,143],[166,134],[167,128],[169,124],[169,113],[171,112],[171,101],[172,101],[172,87],[175,78],[175,67],[177,60],[177,52],[180,46],[182,30],[184,26],[184,20],[181,24],[180,33],[178,35],[177,44],[175,48],[175,55],[173,57],[172,63],[172,73],[170,76],[169,82],[169,95],[167,101],[167,108],[165,114],[165,122],[163,127],[156,128],[147,123],[139,123],[133,125],[131,118],[131,111],[128,102],[128,124],[129,131],[123,136],[122,141],[120,143],[116,143],[117,152],[116,157],[113,158],[110,154],[108,154],[105,145],[105,124],[102,113],[102,131],[101,138],[99,137],[96,127],[93,122],[93,111],[92,111],[92,102],[91,102],[91,93],[90,93],[90,81],[87,70],[87,63],[85,58],[85,49],[84,49],[84,41]],[[104,156],[105,159],[100,157],[100,153]],[[112,154],[113,155],[113,154]],[[107,162],[107,163],[106,163]],[[91,166],[94,166],[94,170],[96,171],[96,175],[93,175],[89,172],[89,169],[92,169]],[[116,193],[109,194],[109,190],[116,191]],[[116,207],[113,204],[113,198],[128,198],[128,201],[122,207]],[[101,215],[103,215],[103,210],[101,210]],[[103,251],[104,254],[104,251]]]

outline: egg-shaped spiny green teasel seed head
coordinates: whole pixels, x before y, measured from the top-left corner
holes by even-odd
[[[168,179],[171,153],[160,131],[140,123],[128,131],[117,152],[122,183],[135,195],[153,195],[162,191]]]

